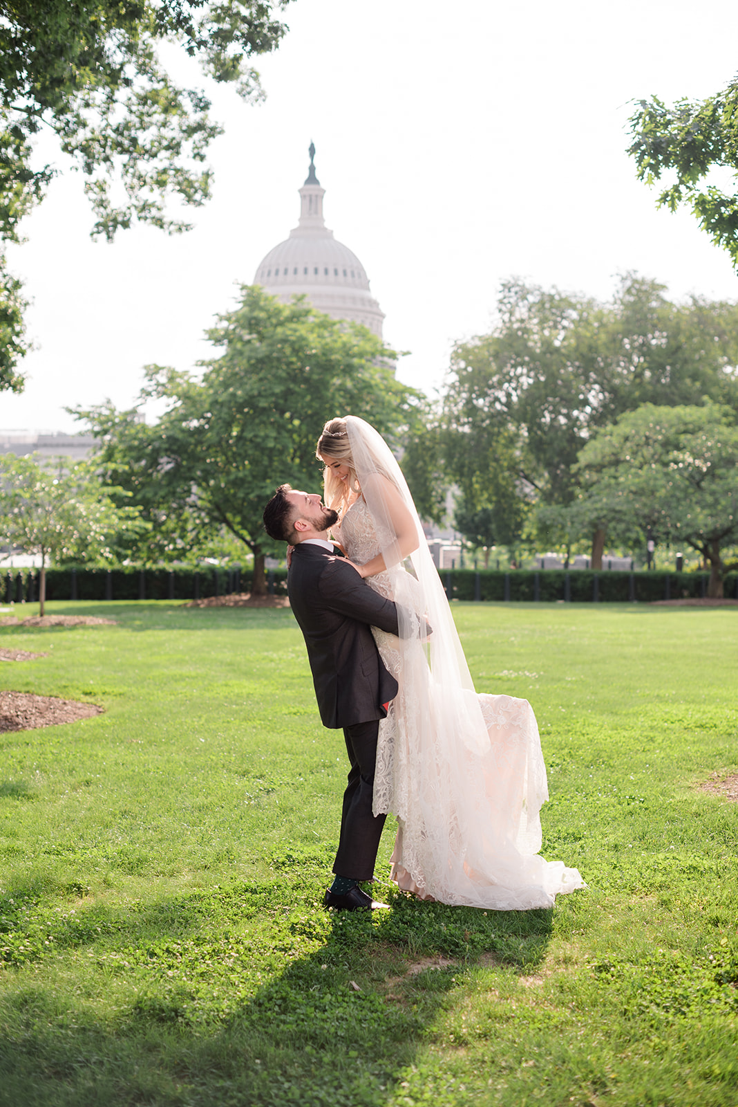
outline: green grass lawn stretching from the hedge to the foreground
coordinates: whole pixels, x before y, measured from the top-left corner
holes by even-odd
[[[118,625],[0,628],[49,654],[2,686],[105,707],[0,735],[3,1107],[738,1104],[738,805],[698,788],[738,767],[738,611],[455,604],[589,888],[375,917],[320,907],[345,753],[288,611],[53,611]]]

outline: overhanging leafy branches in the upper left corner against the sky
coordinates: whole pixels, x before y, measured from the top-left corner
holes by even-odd
[[[0,19],[0,240],[19,241],[19,221],[55,170],[34,167],[33,142],[52,131],[87,178],[93,236],[110,240],[134,220],[186,230],[167,201],[210,195],[209,143],[222,128],[210,102],[180,87],[159,61],[162,43],[198,59],[246,101],[263,93],[253,55],[274,50],[286,28],[274,12],[288,0],[14,0]],[[0,255],[0,270],[4,258]],[[25,350],[17,281],[0,279],[0,387],[20,390]]]

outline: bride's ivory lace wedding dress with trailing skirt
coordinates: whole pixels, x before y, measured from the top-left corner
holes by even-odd
[[[339,537],[348,557],[363,565],[391,546],[383,529],[359,498],[344,515]],[[367,583],[405,613],[414,611],[420,628],[429,606],[412,559],[410,571],[396,565]],[[468,670],[455,628],[439,610],[434,618],[441,623],[431,618],[435,653],[422,633],[400,639],[372,628],[400,687],[380,722],[373,793],[375,814],[391,811],[399,821],[392,879],[443,903],[499,911],[550,907],[558,893],[586,884],[577,869],[538,855],[548,789],[533,708],[514,696],[477,695],[471,677],[464,680]],[[452,623],[450,613],[447,619]],[[454,648],[461,656],[453,656]],[[436,677],[436,670],[449,669],[452,679]]]

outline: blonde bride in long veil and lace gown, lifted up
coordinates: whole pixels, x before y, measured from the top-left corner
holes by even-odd
[[[477,695],[408,485],[389,446],[354,415],[317,445],[334,528],[367,583],[397,601],[400,638],[372,628],[400,685],[379,724],[373,813],[399,823],[392,879],[443,903],[498,911],[550,907],[586,884],[546,861],[548,799],[536,717],[526,700]],[[428,619],[432,634],[418,628]]]

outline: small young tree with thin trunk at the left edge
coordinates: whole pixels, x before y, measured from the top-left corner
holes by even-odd
[[[102,486],[88,463],[0,455],[0,525],[11,547],[41,558],[41,614],[50,561],[109,559],[117,532],[137,526],[138,511],[112,494],[120,489]]]

